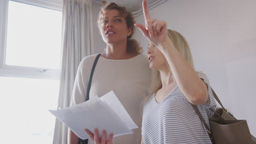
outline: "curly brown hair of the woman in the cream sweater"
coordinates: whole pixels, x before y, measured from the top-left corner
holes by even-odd
[[[119,14],[124,17],[127,25],[127,29],[131,29],[131,34],[127,37],[127,48],[126,51],[129,53],[135,53],[139,54],[142,53],[142,48],[139,46],[139,43],[135,39],[131,39],[132,34],[135,32],[135,26],[134,24],[136,23],[135,19],[133,18],[132,13],[126,10],[125,7],[121,7],[118,4],[115,3],[109,3],[108,5],[102,7],[100,14],[98,15],[98,21],[97,25],[98,28],[100,29],[102,25],[102,21],[104,20],[104,13],[108,10],[118,10]]]

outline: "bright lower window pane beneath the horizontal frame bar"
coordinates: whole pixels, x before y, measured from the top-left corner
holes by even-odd
[[[53,143],[59,80],[0,77],[1,143]]]

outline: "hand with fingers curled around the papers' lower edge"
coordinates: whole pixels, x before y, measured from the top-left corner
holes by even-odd
[[[109,135],[109,139],[106,140],[107,132],[106,130],[102,130],[102,139],[98,136],[98,129],[94,129],[94,134],[91,133],[88,129],[84,129],[85,132],[90,136],[90,138],[94,141],[96,144],[113,144],[113,133]]]

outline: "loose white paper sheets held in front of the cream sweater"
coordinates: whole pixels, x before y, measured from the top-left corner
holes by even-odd
[[[49,111],[83,140],[89,139],[85,128],[91,133],[98,128],[100,137],[105,129],[107,139],[110,133],[113,133],[114,137],[133,134],[131,130],[138,128],[113,91],[101,98],[93,97],[78,105]]]

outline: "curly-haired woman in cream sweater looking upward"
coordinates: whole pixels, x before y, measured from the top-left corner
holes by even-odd
[[[147,56],[141,55],[141,47],[135,39],[131,39],[135,29],[134,23],[132,14],[125,7],[115,3],[104,5],[100,11],[98,28],[106,47],[94,71],[90,98],[96,95],[102,96],[113,90],[133,121],[141,127],[142,118],[139,107],[142,99],[148,94],[151,70]],[[85,101],[90,72],[96,56],[85,57],[80,63],[75,77],[71,105]],[[141,129],[135,129],[133,132],[135,134],[113,138],[111,131],[86,130],[91,138],[89,144],[140,143]],[[98,133],[103,133],[103,137],[98,137]],[[110,135],[110,140],[106,140],[106,135]],[[72,144],[78,143],[78,136],[71,130],[69,130],[68,141]]]

